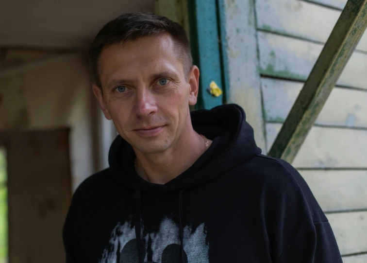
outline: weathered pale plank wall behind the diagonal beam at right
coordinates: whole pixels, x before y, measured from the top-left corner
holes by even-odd
[[[264,152],[271,148],[346,2],[225,1],[229,102],[245,108]],[[293,165],[325,211],[344,262],[366,263],[367,33]]]

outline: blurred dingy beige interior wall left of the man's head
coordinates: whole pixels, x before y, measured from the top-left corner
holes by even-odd
[[[2,64],[29,63],[53,54],[9,49]],[[81,55],[0,78],[0,130],[70,127],[73,189],[95,172],[96,125],[91,77]],[[105,154],[107,157],[107,154]]]

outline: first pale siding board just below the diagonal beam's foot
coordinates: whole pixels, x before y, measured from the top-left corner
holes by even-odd
[[[324,211],[367,209],[367,170],[299,170]]]

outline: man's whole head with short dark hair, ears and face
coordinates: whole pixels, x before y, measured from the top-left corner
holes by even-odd
[[[192,129],[189,105],[196,104],[199,69],[178,23],[122,15],[100,30],[89,56],[102,111],[135,150],[165,151]]]

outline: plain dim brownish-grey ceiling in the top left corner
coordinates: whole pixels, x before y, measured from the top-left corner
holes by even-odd
[[[153,10],[154,0],[1,0],[0,47],[83,48],[118,15]]]

